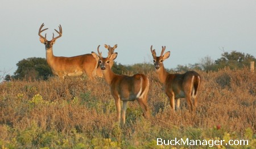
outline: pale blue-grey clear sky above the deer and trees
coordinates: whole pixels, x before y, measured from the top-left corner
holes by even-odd
[[[117,63],[152,62],[150,46],[159,55],[162,46],[171,51],[164,61],[177,65],[213,60],[225,52],[256,57],[255,0],[1,0],[0,76],[13,75],[24,58],[46,58],[39,41],[42,23],[47,39],[61,24],[63,36],[53,45],[55,56],[72,57],[97,51],[107,55],[104,44],[118,48]],[[44,34],[43,34],[44,35]],[[55,33],[56,35],[56,33]]]

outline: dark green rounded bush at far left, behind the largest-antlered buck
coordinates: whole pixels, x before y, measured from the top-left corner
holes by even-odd
[[[45,58],[27,58],[19,61],[16,66],[14,79],[48,79],[52,76],[51,68],[48,66]]]

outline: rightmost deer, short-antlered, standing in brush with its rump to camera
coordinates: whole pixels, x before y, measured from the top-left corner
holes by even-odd
[[[180,98],[185,98],[188,103],[189,110],[196,108],[196,96],[200,87],[201,77],[195,71],[187,71],[185,74],[169,74],[164,69],[163,61],[170,57],[170,51],[164,53],[166,46],[162,46],[162,52],[159,57],[156,56],[155,49],[151,53],[154,58],[154,65],[158,79],[164,84],[166,95],[170,99],[171,108],[175,111],[180,107]],[[164,54],[163,54],[164,53]],[[192,103],[192,98],[194,102]]]

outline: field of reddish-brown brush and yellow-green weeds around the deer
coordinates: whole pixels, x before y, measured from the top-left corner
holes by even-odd
[[[189,113],[185,100],[171,112],[154,71],[150,78],[145,119],[137,102],[129,103],[125,126],[116,121],[114,99],[102,78],[53,77],[47,81],[0,84],[2,148],[208,148],[157,146],[156,138],[200,140],[247,139],[256,148],[256,73],[249,69],[199,72],[203,78],[198,105]]]

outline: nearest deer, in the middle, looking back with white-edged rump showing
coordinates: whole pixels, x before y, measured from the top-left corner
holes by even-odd
[[[121,119],[121,101],[123,101],[122,124],[125,124],[127,101],[137,100],[143,109],[143,115],[148,117],[147,93],[150,83],[147,76],[144,74],[135,74],[133,76],[114,74],[110,69],[110,62],[117,58],[117,53],[108,54],[108,57],[103,58],[99,47],[100,45],[98,46],[98,54],[92,52],[92,55],[98,61],[102,74],[110,86],[111,94],[115,100],[115,107],[117,108],[118,124]]]

